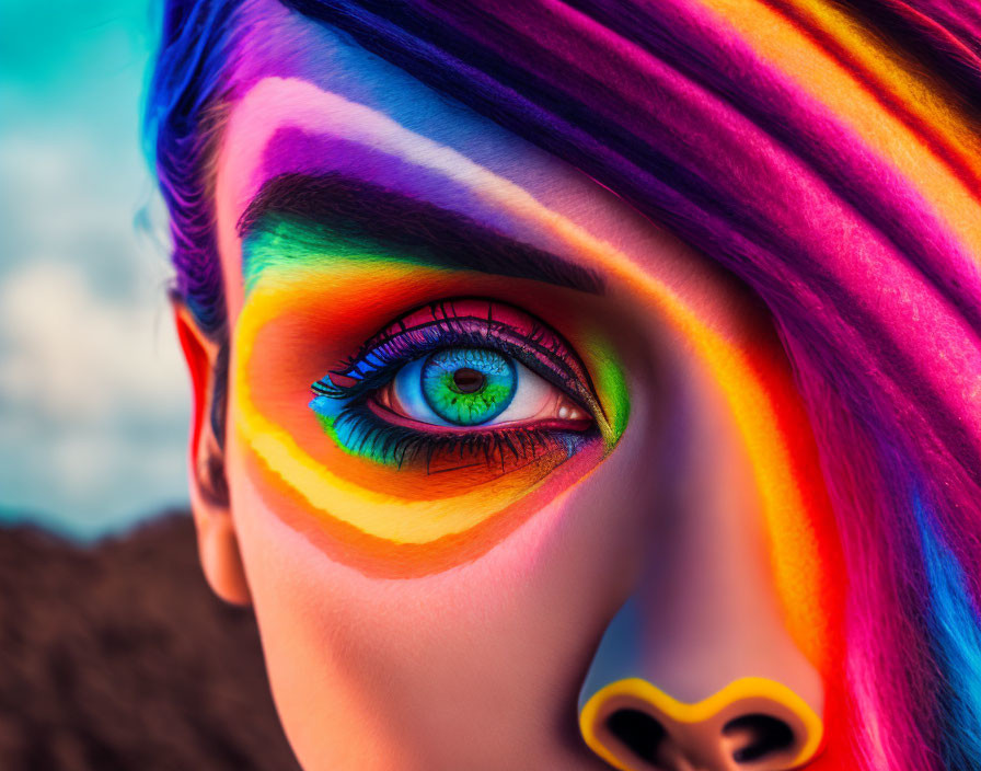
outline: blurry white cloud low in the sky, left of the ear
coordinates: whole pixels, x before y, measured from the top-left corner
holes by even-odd
[[[89,281],[73,265],[35,261],[0,285],[0,395],[74,424],[127,407],[182,411],[183,367],[161,329],[162,298],[112,301]]]

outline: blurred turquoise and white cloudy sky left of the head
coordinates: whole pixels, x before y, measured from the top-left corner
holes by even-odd
[[[186,506],[189,387],[140,149],[149,0],[0,0],[0,522]]]

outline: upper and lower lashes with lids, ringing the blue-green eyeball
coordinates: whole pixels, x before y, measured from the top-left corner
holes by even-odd
[[[531,320],[533,323],[528,333],[519,332],[511,325],[493,319],[495,308],[506,308],[503,303],[493,301],[484,301],[489,302],[487,318],[455,315],[451,310],[453,302],[461,301],[438,302],[423,309],[429,317],[423,324],[407,326],[405,320],[417,315],[419,311],[407,314],[403,321],[390,325],[385,332],[366,343],[341,368],[311,386],[314,402],[316,399],[347,402],[336,414],[330,428],[338,444],[355,454],[369,454],[399,468],[425,457],[429,473],[435,473],[430,469],[434,458],[454,456],[460,460],[483,457],[487,465],[499,462],[504,472],[508,459],[512,463],[529,458],[534,460],[540,457],[540,449],[550,451],[556,448],[572,456],[598,435],[596,426],[585,431],[533,425],[428,431],[395,425],[377,415],[368,405],[368,400],[377,389],[390,382],[402,366],[442,348],[468,345],[488,347],[512,356],[584,404],[587,412],[595,415],[596,396],[585,368],[547,327]],[[521,315],[527,318],[523,312]],[[575,364],[567,361],[566,357]],[[337,384],[331,376],[346,378],[351,382]],[[466,463],[465,467],[476,464]]]

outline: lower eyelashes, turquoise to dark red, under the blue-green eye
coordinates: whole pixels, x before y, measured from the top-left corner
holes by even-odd
[[[425,459],[427,473],[439,473],[477,465],[468,462],[451,468],[431,468],[434,458],[466,460],[483,459],[487,467],[501,467],[521,461],[532,461],[543,452],[562,448],[567,457],[575,454],[584,444],[596,436],[588,431],[563,431],[517,427],[495,431],[453,431],[430,434],[397,426],[378,417],[365,403],[357,400],[346,405],[333,419],[328,430],[341,447],[353,454],[367,457],[374,462],[402,468]],[[521,463],[523,465],[523,463]],[[513,470],[513,469],[512,469]]]

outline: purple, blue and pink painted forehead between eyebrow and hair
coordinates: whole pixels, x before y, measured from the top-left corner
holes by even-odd
[[[231,312],[242,299],[234,226],[266,182],[297,172],[380,185],[591,268],[633,263],[701,304],[717,304],[713,287],[726,302],[739,294],[578,170],[333,28],[275,3],[252,7],[242,27],[215,186]]]

